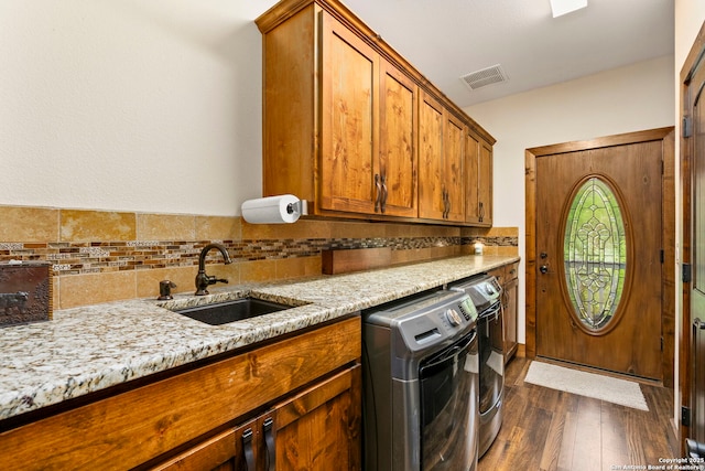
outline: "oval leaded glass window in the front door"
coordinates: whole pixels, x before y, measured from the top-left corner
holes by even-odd
[[[627,237],[618,200],[599,176],[575,193],[565,222],[565,281],[574,313],[585,328],[609,324],[627,270]]]

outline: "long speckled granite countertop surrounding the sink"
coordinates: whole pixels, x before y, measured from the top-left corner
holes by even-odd
[[[364,272],[212,289],[172,301],[130,300],[54,312],[0,329],[0,420],[130,379],[305,329],[517,261],[464,256]],[[295,306],[208,325],[165,308],[254,298]]]

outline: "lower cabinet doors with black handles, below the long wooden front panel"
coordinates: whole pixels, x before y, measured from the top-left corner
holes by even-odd
[[[360,365],[285,398],[152,470],[359,470]]]

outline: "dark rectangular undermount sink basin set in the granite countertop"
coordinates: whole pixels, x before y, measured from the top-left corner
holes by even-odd
[[[195,308],[174,309],[174,312],[210,325],[221,325],[290,308],[291,306],[263,301],[261,299],[242,298],[215,304],[197,306]]]

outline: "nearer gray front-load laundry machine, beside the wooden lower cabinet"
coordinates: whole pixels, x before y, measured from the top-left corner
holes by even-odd
[[[477,310],[425,292],[362,312],[366,471],[469,471],[478,458]]]

